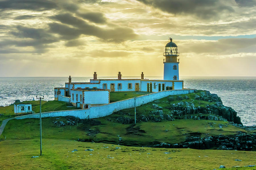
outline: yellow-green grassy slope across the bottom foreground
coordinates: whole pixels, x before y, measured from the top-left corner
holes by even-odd
[[[42,141],[42,156],[39,138],[0,142],[0,169],[218,169],[220,165],[231,168],[255,164],[255,152],[141,148],[44,138]],[[88,148],[94,151],[84,151]],[[78,151],[71,152],[73,149]]]

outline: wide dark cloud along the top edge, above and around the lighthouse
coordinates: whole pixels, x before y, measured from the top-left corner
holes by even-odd
[[[224,11],[234,9],[221,3],[220,0],[137,0],[154,8],[171,14],[192,14],[199,18],[216,18]]]

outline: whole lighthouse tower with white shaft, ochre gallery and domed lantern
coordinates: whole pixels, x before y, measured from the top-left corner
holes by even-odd
[[[179,80],[179,53],[176,43],[168,42],[164,52],[164,80]]]

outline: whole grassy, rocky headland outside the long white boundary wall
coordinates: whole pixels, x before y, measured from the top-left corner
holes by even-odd
[[[7,115],[9,107],[1,107],[1,113],[7,109]],[[36,101],[32,108],[38,108]],[[70,107],[48,101],[42,108],[44,112]],[[256,127],[243,126],[234,109],[203,90],[136,107],[136,124],[134,108],[96,119],[43,118],[43,156],[39,156],[38,123],[39,119],[7,123],[0,136],[1,168],[39,164],[56,169],[115,169],[120,163],[119,169],[127,169],[133,163],[132,169],[218,169],[220,165],[253,169],[255,164]]]

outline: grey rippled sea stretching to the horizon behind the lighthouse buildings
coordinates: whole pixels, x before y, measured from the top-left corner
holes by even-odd
[[[72,82],[89,82],[92,77],[72,77]],[[98,77],[116,78],[116,77]],[[122,78],[140,78],[122,77]],[[161,76],[148,76],[148,79],[163,79]],[[208,90],[217,94],[225,106],[232,107],[243,125],[256,126],[256,77],[194,77],[180,76],[184,88]],[[68,77],[0,77],[0,106],[20,101],[54,100],[54,88],[64,87]]]

